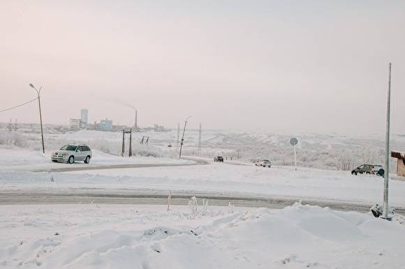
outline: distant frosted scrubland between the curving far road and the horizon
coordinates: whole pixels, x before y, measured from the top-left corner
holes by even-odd
[[[190,123],[186,130],[185,155],[198,154],[198,130],[193,129],[196,126]],[[142,137],[149,137],[149,145],[140,145]],[[297,162],[300,167],[339,170],[362,163],[383,163],[385,137],[380,134],[270,134],[243,130],[202,130],[199,155],[210,159],[214,155],[235,157],[239,151],[241,160],[245,162],[268,158],[274,164],[290,165],[293,162],[293,148],[288,143],[291,137],[299,140]],[[49,151],[66,143],[84,143],[98,151],[119,155],[121,139],[121,132],[60,132],[49,126],[45,129],[45,148]],[[138,156],[175,157],[178,152],[176,143],[177,130],[133,133],[133,152]],[[38,129],[20,128],[9,132],[0,124],[0,147],[12,146],[40,150]],[[405,151],[405,135],[392,134],[391,148],[394,151]],[[395,160],[392,160],[392,171],[395,167]]]

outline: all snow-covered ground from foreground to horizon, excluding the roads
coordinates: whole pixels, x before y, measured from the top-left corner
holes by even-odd
[[[353,151],[356,156],[364,152],[364,162],[378,159],[381,152],[363,151],[367,142],[360,137],[330,136],[325,141],[325,137],[301,137],[299,164],[329,170],[299,167],[295,171],[280,165],[290,164],[283,160],[290,158],[287,136],[211,132],[203,142],[202,155],[209,156],[205,160],[217,154],[231,156],[237,148],[242,148],[242,160],[183,167],[34,172],[112,164],[194,163],[178,160],[176,148],[167,147],[175,132],[152,134],[152,145],[135,145],[136,156],[131,158],[108,154],[116,154],[120,148],[119,133],[114,132],[46,134],[49,151],[45,155],[30,146],[38,142],[37,134],[6,135],[24,147],[14,142],[0,146],[0,190],[3,197],[8,193],[86,195],[172,190],[369,206],[381,203],[383,178],[333,171],[337,168],[333,165],[343,160],[337,154],[342,151]],[[135,134],[134,139],[141,135]],[[196,142],[196,136],[191,137]],[[91,145],[91,163],[51,162],[52,149],[72,140]],[[374,141],[371,144],[377,148],[381,142],[373,136],[366,140]],[[402,136],[393,139],[399,146],[403,140]],[[273,151],[270,159],[276,161],[270,169],[249,162]],[[184,152],[193,155],[196,147],[186,144]],[[404,208],[405,180],[392,178],[390,204]],[[167,212],[165,206],[78,204],[73,199],[68,205],[2,205],[0,216],[0,268],[404,268],[405,264],[402,216],[386,222],[370,213],[318,206],[296,204],[282,210],[175,206]]]

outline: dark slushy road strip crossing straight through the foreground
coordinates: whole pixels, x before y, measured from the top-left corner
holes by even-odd
[[[184,206],[191,197],[198,199],[207,199],[211,206],[233,206],[241,207],[260,207],[260,208],[285,208],[297,202],[293,197],[277,196],[246,196],[238,194],[221,194],[205,192],[173,192],[173,205]],[[357,211],[360,213],[368,212],[371,205],[367,203],[349,203],[347,201],[317,201],[313,199],[301,199],[303,204],[312,206],[329,207],[334,210]],[[24,191],[22,192],[3,192],[0,195],[0,205],[10,204],[138,204],[138,205],[165,205],[168,203],[168,194],[159,190],[133,190],[131,194],[124,193],[97,193],[89,190],[78,192],[47,192],[43,191]],[[397,213],[405,215],[405,208],[396,208]]]

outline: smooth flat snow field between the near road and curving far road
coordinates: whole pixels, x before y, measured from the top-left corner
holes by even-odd
[[[8,151],[3,149],[3,153]],[[7,155],[7,154],[5,154]],[[109,157],[110,158],[110,157]],[[108,160],[110,160],[108,158]],[[146,158],[146,160],[144,160]],[[126,162],[172,162],[154,157],[134,157],[131,160],[112,156]],[[96,157],[94,158],[96,160]],[[102,159],[103,160],[103,159]],[[96,162],[96,161],[95,161]],[[184,161],[192,162],[192,161]],[[104,163],[101,162],[100,163]],[[110,163],[110,162],[105,162]],[[273,197],[306,199],[312,201],[337,201],[373,205],[381,203],[383,178],[378,176],[352,176],[348,171],[273,166],[255,167],[243,162],[210,162],[206,165],[186,167],[145,167],[127,169],[101,169],[63,173],[31,172],[35,167],[29,160],[24,165],[0,169],[0,186],[3,194],[40,192],[46,194],[152,194],[155,190],[169,190],[199,194],[222,194],[233,197]],[[45,165],[46,164],[46,165]],[[240,165],[245,164],[245,165]],[[43,160],[44,167],[71,167]],[[84,164],[77,164],[84,166]],[[16,168],[20,167],[18,170]],[[391,180],[390,203],[405,207],[405,181]]]

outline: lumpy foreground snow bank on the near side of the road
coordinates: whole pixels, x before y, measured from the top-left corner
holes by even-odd
[[[1,206],[3,268],[403,268],[405,226],[296,204],[191,220],[134,206]],[[149,208],[150,209],[150,208]],[[33,212],[34,211],[34,212]],[[7,215],[6,215],[7,214]]]

